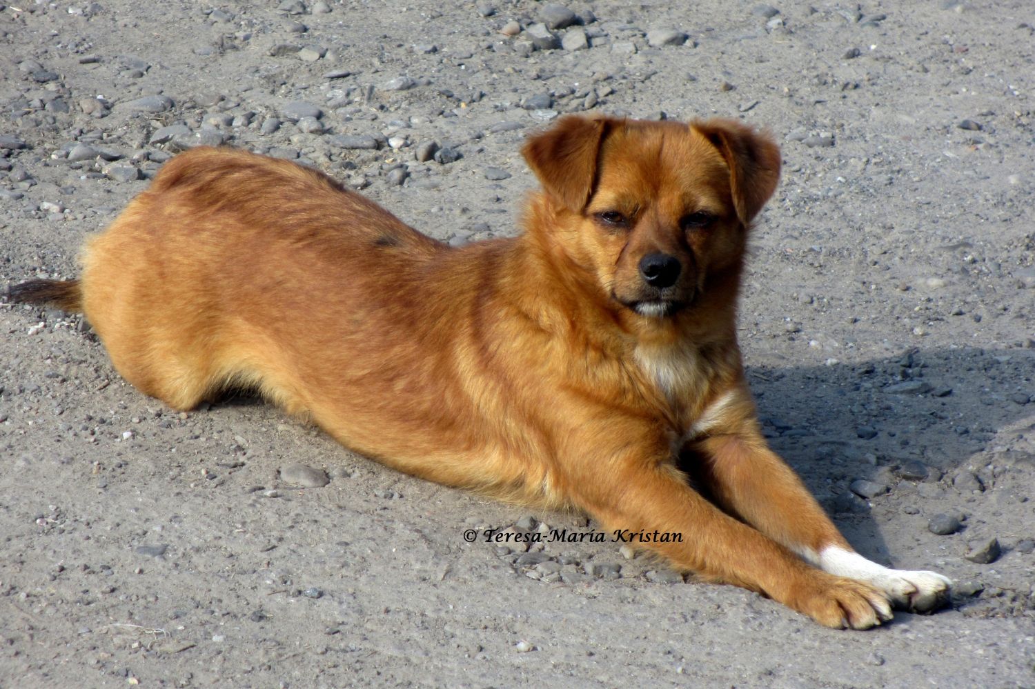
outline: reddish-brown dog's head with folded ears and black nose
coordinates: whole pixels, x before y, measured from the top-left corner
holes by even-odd
[[[772,139],[721,119],[568,116],[522,152],[557,218],[552,241],[605,298],[647,319],[672,317],[712,278],[739,275],[780,166]]]

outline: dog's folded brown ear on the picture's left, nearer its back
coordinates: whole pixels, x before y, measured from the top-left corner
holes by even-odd
[[[596,181],[596,158],[613,120],[568,115],[522,148],[542,187],[573,211],[589,202]]]

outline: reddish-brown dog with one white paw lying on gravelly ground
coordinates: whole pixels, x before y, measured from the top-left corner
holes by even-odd
[[[946,577],[856,553],[760,430],[735,325],[772,139],[572,115],[522,152],[524,232],[450,247],[315,170],[196,148],[79,279],[10,297],[82,311],[174,410],[253,387],[401,472],[585,511],[828,627],[944,605]]]

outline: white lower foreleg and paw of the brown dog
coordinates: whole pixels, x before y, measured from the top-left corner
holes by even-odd
[[[949,601],[952,581],[936,572],[889,569],[833,545],[824,548],[817,561],[825,572],[880,589],[895,607],[910,612],[933,612]]]

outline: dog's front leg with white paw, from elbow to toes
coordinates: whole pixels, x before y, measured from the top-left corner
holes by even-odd
[[[951,582],[941,574],[890,569],[855,552],[755,428],[713,435],[689,449],[700,462],[696,477],[724,510],[824,571],[869,583],[903,609],[928,612],[947,602]]]

